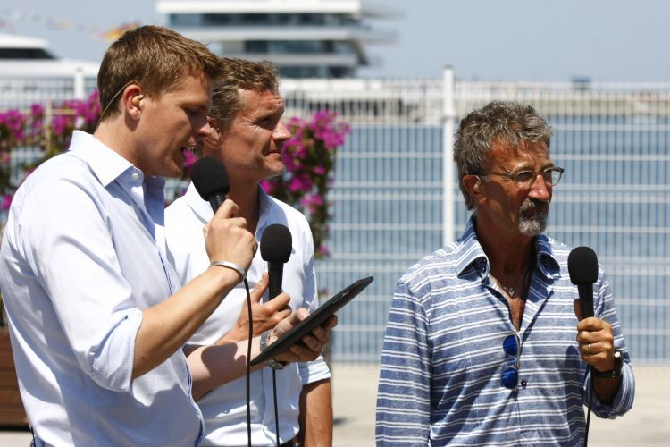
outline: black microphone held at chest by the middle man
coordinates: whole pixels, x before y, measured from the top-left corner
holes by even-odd
[[[267,261],[270,286],[268,293],[273,299],[281,293],[281,276],[284,273],[284,263],[291,256],[291,232],[284,225],[273,223],[268,226],[261,237],[261,257]]]

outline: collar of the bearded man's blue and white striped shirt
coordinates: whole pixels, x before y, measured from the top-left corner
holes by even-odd
[[[464,253],[464,256],[456,262],[456,272],[459,277],[473,270],[478,271],[482,277],[489,274],[489,258],[477,239],[475,222],[476,217],[472,215],[465,225],[465,232],[460,240],[462,247],[459,251]],[[560,274],[560,267],[546,235],[540,234],[535,238],[535,253],[537,253],[536,273],[539,272],[547,278],[556,278]]]

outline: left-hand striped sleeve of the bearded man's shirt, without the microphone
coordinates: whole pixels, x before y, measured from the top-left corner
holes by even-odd
[[[421,300],[398,283],[381,350],[377,445],[426,445],[430,434],[431,360]]]

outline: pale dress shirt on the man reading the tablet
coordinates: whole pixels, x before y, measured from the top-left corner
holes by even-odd
[[[180,287],[163,184],[75,131],[13,199],[0,286],[40,444],[194,445],[202,434],[181,351],[131,380],[140,309]]]

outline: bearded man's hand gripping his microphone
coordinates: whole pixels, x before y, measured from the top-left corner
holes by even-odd
[[[577,342],[582,360],[600,372],[613,370],[615,345],[612,326],[594,316],[582,318],[579,299],[575,299],[573,305],[574,315],[580,320],[577,324]]]

